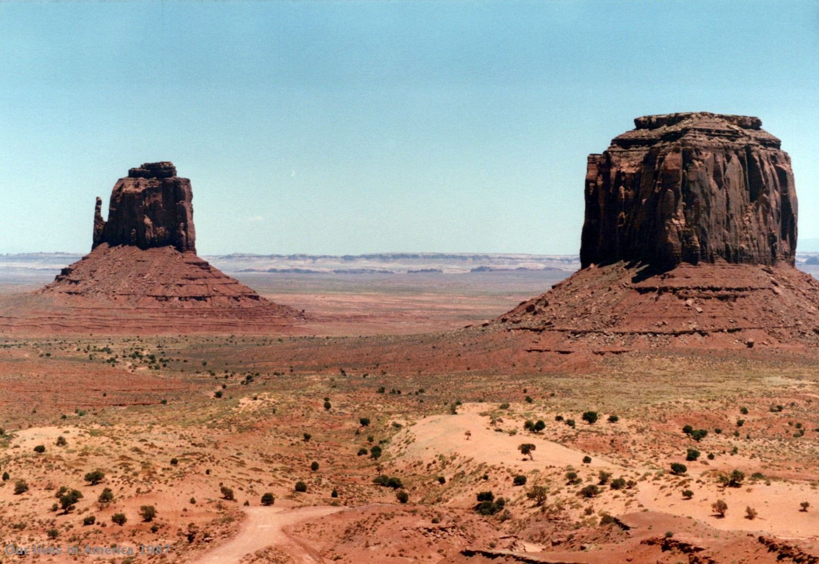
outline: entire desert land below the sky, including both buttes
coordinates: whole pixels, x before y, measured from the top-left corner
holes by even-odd
[[[88,255],[4,263],[7,558],[817,562],[788,156],[756,118],[636,126],[590,157],[579,260],[214,257],[242,284],[191,182],[131,169]]]

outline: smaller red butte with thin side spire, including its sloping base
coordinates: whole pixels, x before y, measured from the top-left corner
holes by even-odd
[[[0,302],[0,330],[282,330],[303,313],[262,298],[196,253],[191,181],[170,162],[129,170],[97,198],[92,251],[34,294]]]

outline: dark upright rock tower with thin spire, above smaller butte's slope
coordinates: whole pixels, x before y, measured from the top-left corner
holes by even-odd
[[[173,246],[196,252],[191,181],[179,178],[170,162],[150,162],[132,168],[111,193],[108,220],[102,201],[94,212],[93,247],[133,245],[141,249]]]

